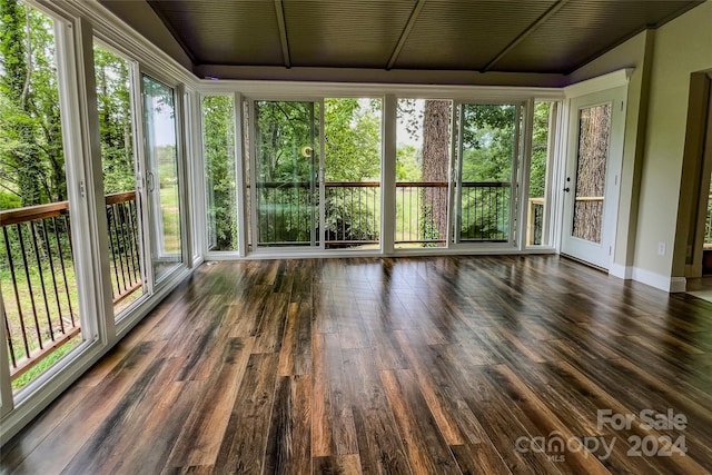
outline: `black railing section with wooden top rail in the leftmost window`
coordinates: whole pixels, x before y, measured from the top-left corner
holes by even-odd
[[[0,212],[4,326],[12,379],[79,334],[67,201]]]

